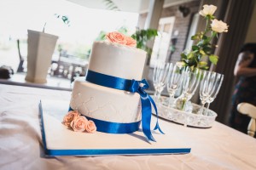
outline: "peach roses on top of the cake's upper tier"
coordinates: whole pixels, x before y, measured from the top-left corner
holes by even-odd
[[[118,31],[108,32],[106,38],[109,42],[119,43],[130,47],[136,47],[137,45],[137,41],[135,39],[125,36]]]

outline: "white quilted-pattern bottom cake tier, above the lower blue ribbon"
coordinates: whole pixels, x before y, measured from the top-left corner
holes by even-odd
[[[127,94],[123,90],[102,87],[84,81],[84,77],[74,82],[70,106],[84,116],[108,122],[141,120],[139,94]]]

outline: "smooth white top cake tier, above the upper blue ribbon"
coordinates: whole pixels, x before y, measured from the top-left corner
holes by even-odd
[[[88,69],[113,77],[141,80],[146,52],[112,42],[94,42]]]

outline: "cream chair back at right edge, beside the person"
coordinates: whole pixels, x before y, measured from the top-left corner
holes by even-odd
[[[239,111],[243,115],[247,115],[251,117],[251,121],[247,127],[247,134],[254,137],[255,130],[256,130],[256,106],[249,104],[249,103],[240,103],[237,105],[237,111]]]

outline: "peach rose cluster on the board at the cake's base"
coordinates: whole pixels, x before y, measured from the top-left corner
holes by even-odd
[[[62,124],[68,128],[72,128],[75,132],[96,132],[95,123],[87,120],[85,116],[81,116],[78,111],[69,111],[64,116]]]

